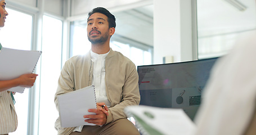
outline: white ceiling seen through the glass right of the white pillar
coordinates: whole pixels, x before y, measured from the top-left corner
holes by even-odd
[[[246,7],[244,11],[226,0],[197,0],[198,37],[234,33],[256,28],[255,0],[231,0]]]

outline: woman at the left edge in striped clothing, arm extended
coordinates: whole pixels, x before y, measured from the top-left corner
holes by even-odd
[[[0,28],[5,26],[8,15],[5,10],[5,0],[0,0]],[[0,44],[0,50],[2,46]],[[1,64],[1,62],[0,62]],[[17,116],[14,108],[12,92],[7,91],[12,87],[32,87],[37,74],[24,74],[12,80],[0,80],[0,134],[14,132],[17,128]]]

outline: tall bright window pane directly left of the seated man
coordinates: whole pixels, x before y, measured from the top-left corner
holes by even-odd
[[[39,134],[57,134],[54,96],[61,70],[62,21],[43,16]],[[47,129],[47,130],[46,130]]]

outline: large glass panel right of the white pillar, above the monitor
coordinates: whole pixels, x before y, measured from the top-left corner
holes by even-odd
[[[255,0],[197,0],[199,59],[225,55],[237,38],[254,30],[255,6]]]

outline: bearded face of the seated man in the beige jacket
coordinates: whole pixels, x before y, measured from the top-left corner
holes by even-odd
[[[107,16],[102,13],[93,13],[87,21],[87,37],[92,44],[105,43],[112,35],[109,29]]]

